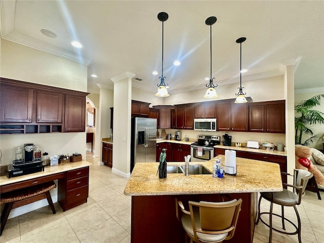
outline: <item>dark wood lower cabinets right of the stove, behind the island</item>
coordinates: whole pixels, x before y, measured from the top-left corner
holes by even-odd
[[[223,148],[214,148],[214,156],[219,154],[225,154],[225,149]],[[266,154],[266,153],[254,153],[247,151],[236,151],[236,157],[240,158],[250,158],[255,160],[262,160],[272,163],[279,164],[281,172],[287,172],[287,157],[280,156],[275,154]],[[287,183],[287,175],[281,175],[281,180],[283,183]]]

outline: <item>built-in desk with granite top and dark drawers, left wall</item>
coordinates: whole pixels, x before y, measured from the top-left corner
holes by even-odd
[[[89,166],[88,161],[78,161],[47,166],[42,172],[29,175],[8,178],[0,177],[1,193],[26,188],[32,185],[48,181],[58,180],[58,203],[63,211],[86,203],[89,195]],[[45,195],[38,195],[21,200],[15,208],[33,203],[45,198]]]

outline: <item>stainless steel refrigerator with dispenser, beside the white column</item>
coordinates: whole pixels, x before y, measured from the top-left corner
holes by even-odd
[[[156,118],[132,117],[131,172],[137,162],[156,160]]]

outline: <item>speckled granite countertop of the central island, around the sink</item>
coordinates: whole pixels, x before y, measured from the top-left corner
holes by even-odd
[[[224,155],[218,155],[216,158],[220,156],[224,159]],[[168,165],[184,165],[184,163],[168,162]],[[212,171],[212,160],[190,162],[190,165],[203,165]],[[236,176],[224,174],[223,178],[213,178],[212,175],[184,176],[181,173],[168,174],[166,179],[159,179],[156,175],[158,163],[136,163],[124,194],[131,196],[180,195],[282,190],[278,164],[236,157],[236,165]]]

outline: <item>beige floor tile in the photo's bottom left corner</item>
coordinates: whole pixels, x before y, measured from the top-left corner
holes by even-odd
[[[20,242],[19,218],[8,219],[5,229],[0,237],[0,243]]]

